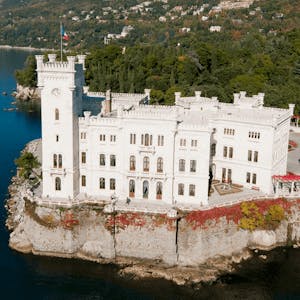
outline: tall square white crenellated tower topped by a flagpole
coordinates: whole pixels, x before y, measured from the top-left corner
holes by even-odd
[[[72,200],[79,190],[79,130],[84,85],[84,56],[76,63],[36,55],[42,111],[43,197]]]

